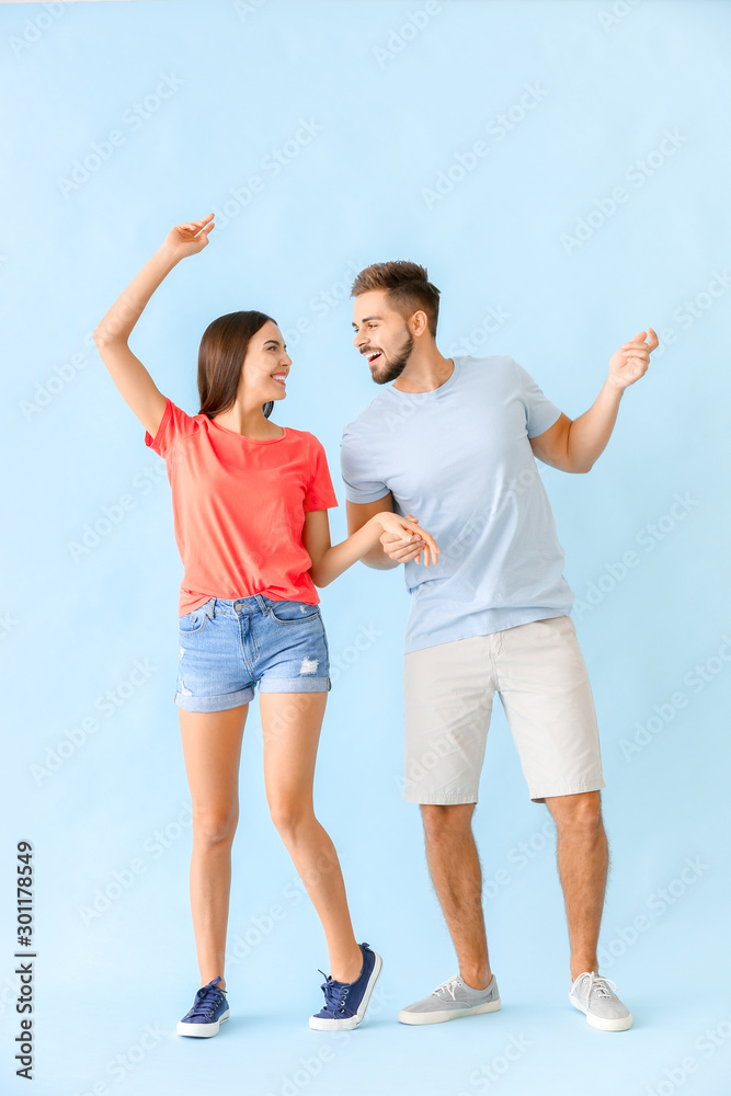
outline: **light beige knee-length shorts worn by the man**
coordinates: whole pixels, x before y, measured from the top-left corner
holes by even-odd
[[[403,798],[476,803],[492,698],[500,695],[528,795],[604,787],[589,674],[569,616],[404,655]]]

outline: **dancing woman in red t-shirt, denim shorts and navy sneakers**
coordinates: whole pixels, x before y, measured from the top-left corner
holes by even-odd
[[[264,780],[272,819],[322,923],[330,977],[318,1030],[357,1027],[382,961],[353,934],[334,846],[312,806],[315,760],[330,689],[328,643],[315,586],[361,559],[384,532],[416,539],[424,564],[438,548],[415,521],[377,514],[331,546],[338,505],[324,449],[306,431],[269,420],[286,396],[292,359],[262,312],[220,316],[198,351],[201,410],[186,414],[156,387],[127,339],[181,259],[202,251],[213,214],[178,225],[94,332],[100,355],[168,467],[180,590],[179,708],[193,800],[191,905],[201,989],[178,1024],[217,1035],[228,1019],[224,955],[238,821],[238,773],[249,703],[259,684]]]

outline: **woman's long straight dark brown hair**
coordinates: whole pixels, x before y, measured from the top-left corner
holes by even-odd
[[[208,324],[198,347],[198,393],[201,414],[213,419],[233,406],[249,340],[271,316],[264,312],[227,312]],[[272,320],[276,323],[276,320]],[[273,402],[264,403],[269,418]]]

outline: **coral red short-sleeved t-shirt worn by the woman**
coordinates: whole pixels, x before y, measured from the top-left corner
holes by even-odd
[[[284,427],[255,441],[172,400],[145,444],[164,458],[175,541],[185,568],[181,616],[209,597],[320,601],[302,544],[305,514],[338,505],[324,449],[313,434]]]

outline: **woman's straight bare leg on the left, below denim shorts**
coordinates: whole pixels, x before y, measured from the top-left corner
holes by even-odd
[[[231,889],[231,843],[239,820],[239,760],[249,705],[228,711],[180,711],[185,773],[193,799],[191,912],[201,985],[217,974],[226,987],[224,955]]]

